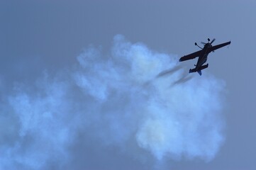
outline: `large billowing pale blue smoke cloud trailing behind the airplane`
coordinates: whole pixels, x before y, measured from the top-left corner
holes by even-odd
[[[0,169],[154,169],[211,161],[224,140],[224,82],[122,35],[108,55],[90,46],[58,74],[0,86]]]

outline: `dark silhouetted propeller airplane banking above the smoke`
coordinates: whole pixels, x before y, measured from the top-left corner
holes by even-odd
[[[184,55],[184,57],[181,57],[179,59],[179,62],[184,62],[186,60],[191,60],[194,59],[195,57],[199,57],[199,59],[197,60],[197,63],[194,64],[195,68],[194,69],[189,69],[189,73],[192,72],[198,72],[199,75],[202,75],[201,70],[202,69],[206,69],[208,67],[208,64],[203,65],[206,61],[207,61],[207,57],[208,54],[210,52],[214,52],[214,50],[217,50],[218,48],[224,47],[226,45],[230,45],[231,41],[228,42],[224,42],[222,44],[219,45],[211,45],[213,42],[215,41],[215,38],[213,38],[213,40],[211,40],[208,38],[208,42],[201,42],[204,45],[204,48],[200,47],[199,45],[197,45],[197,43],[195,42],[195,45],[199,48],[201,48],[201,50],[191,53],[189,55]]]

